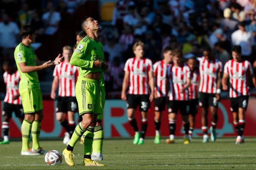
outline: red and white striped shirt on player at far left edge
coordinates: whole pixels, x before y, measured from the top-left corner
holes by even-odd
[[[19,95],[19,82],[20,82],[19,72],[16,71],[13,74],[4,72],[3,81],[6,84],[6,95],[4,97],[4,102],[21,105],[21,96],[19,96],[19,98],[16,100],[12,99],[14,96]]]

